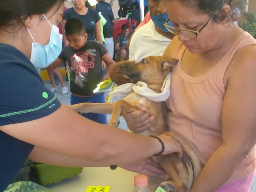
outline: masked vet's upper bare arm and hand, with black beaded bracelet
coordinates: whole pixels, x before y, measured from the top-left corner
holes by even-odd
[[[0,126],[0,130],[36,147],[101,166],[136,162],[162,150],[155,138],[93,122],[64,104],[50,115]],[[159,138],[165,145],[163,154],[182,151],[170,136]]]

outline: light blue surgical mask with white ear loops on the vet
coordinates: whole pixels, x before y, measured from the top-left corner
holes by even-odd
[[[48,67],[54,60],[58,58],[62,49],[62,35],[59,33],[59,28],[55,25],[51,25],[44,14],[43,16],[52,27],[50,41],[48,44],[42,45],[36,43],[35,39],[27,28],[28,33],[34,41],[34,43],[32,43],[30,61],[36,68],[39,69]]]

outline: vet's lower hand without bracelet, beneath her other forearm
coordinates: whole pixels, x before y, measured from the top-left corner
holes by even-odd
[[[150,158],[144,159],[135,163],[118,165],[118,166],[128,171],[146,174],[151,177],[156,177],[157,174],[165,173],[165,171],[161,168],[161,166]]]

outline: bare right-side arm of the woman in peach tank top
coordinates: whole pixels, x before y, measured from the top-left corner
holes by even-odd
[[[227,88],[221,114],[223,143],[207,161],[190,192],[215,191],[256,144],[255,61],[255,51],[250,46],[244,47],[226,71],[224,85],[227,84]]]

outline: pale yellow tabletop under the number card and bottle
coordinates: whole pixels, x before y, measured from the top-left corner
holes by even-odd
[[[136,174],[120,167],[116,170],[110,170],[109,167],[84,167],[83,172],[74,178],[45,187],[58,192],[85,192],[88,186],[111,186],[110,192],[131,192]]]

